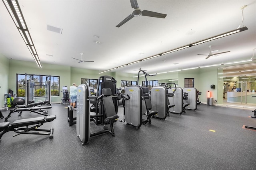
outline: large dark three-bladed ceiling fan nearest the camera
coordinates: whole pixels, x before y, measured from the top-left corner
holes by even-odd
[[[165,18],[167,15],[166,14],[161,14],[157,12],[152,12],[152,11],[147,11],[147,10],[140,10],[138,6],[137,0],[130,0],[132,8],[134,8],[132,14],[130,14],[128,17],[126,17],[122,22],[120,22],[116,27],[120,27],[126,22],[128,22],[130,19],[132,19],[134,16],[150,16],[150,17],[156,17],[156,18]]]

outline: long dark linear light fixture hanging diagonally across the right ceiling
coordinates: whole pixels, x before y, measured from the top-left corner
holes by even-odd
[[[245,30],[248,30],[247,27],[242,27],[242,28],[237,28],[236,30],[232,30],[232,31],[229,31],[229,32],[225,32],[223,34],[219,34],[217,36],[213,36],[213,37],[210,37],[210,38],[206,38],[204,40],[200,40],[198,42],[194,42],[194,43],[190,43],[188,45],[184,45],[182,47],[178,47],[178,48],[175,48],[175,49],[171,49],[170,51],[166,51],[164,53],[160,53],[160,54],[157,54],[157,55],[153,55],[153,56],[150,56],[150,57],[147,57],[147,58],[144,58],[144,59],[141,59],[141,60],[138,60],[138,61],[134,61],[132,63],[128,63],[128,64],[125,64],[125,65],[122,65],[122,66],[118,66],[117,68],[121,68],[121,67],[125,67],[127,65],[131,65],[131,64],[134,64],[134,63],[138,63],[138,62],[141,62],[141,61],[145,61],[145,60],[148,60],[148,59],[152,59],[152,58],[155,58],[155,57],[159,57],[161,55],[165,55],[165,54],[168,54],[168,53],[173,53],[175,51],[179,51],[179,50],[182,50],[182,49],[186,49],[188,47],[193,47],[195,45],[198,45],[198,44],[202,44],[202,43],[206,43],[206,42],[210,42],[212,40],[216,40],[216,39],[219,39],[219,38],[222,38],[222,37],[226,37],[226,36],[230,36],[232,34],[236,34],[238,32],[242,32],[242,31],[245,31]],[[209,66],[210,67],[210,66]],[[203,68],[203,67],[201,67]],[[110,69],[112,70],[112,69]],[[101,73],[104,73],[104,71],[100,72],[99,74]]]

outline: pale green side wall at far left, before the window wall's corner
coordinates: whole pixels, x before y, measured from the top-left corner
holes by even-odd
[[[10,88],[8,86],[8,75],[9,59],[0,54],[0,107],[4,107],[4,94],[7,94]]]

